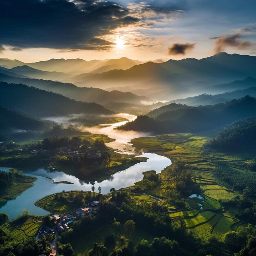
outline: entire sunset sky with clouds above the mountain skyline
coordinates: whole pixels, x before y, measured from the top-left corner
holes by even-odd
[[[255,0],[0,0],[0,58],[256,56]]]

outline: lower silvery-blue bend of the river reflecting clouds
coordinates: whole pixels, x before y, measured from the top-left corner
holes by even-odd
[[[95,183],[85,183],[73,175],[69,175],[61,171],[49,172],[43,168],[38,168],[36,171],[26,170],[24,171],[26,175],[37,177],[38,180],[34,182],[33,187],[23,192],[21,195],[18,195],[15,199],[0,204],[0,211],[6,212],[9,215],[9,218],[16,217],[23,209],[28,209],[31,214],[45,215],[48,212],[36,207],[34,202],[46,195],[61,192],[63,190],[88,191],[91,190],[92,184],[96,189],[101,186],[101,193],[108,193],[111,188],[120,189],[132,186],[135,182],[142,179],[142,173],[144,171],[155,170],[159,173],[162,169],[171,164],[170,159],[157,154],[144,153],[141,156],[147,157],[147,162],[135,164],[124,171],[115,173],[107,180]],[[5,171],[8,170],[8,168],[1,169]],[[65,180],[72,182],[73,184],[54,184],[52,183],[53,180],[54,182]]]

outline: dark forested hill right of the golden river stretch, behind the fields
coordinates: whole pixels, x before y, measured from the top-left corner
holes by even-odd
[[[119,126],[119,130],[136,130],[155,133],[198,132],[222,128],[227,124],[256,115],[256,99],[245,96],[225,104],[185,107],[167,111],[155,118],[139,116],[135,121]]]

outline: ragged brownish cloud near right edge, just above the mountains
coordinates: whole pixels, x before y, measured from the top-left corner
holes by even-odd
[[[236,49],[245,49],[252,46],[249,41],[240,40],[241,34],[237,33],[229,36],[218,36],[210,39],[216,39],[215,52],[223,52],[226,47],[235,47]]]

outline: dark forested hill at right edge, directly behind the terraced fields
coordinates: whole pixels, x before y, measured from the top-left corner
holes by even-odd
[[[256,116],[240,119],[207,142],[206,147],[251,152],[256,150]]]

